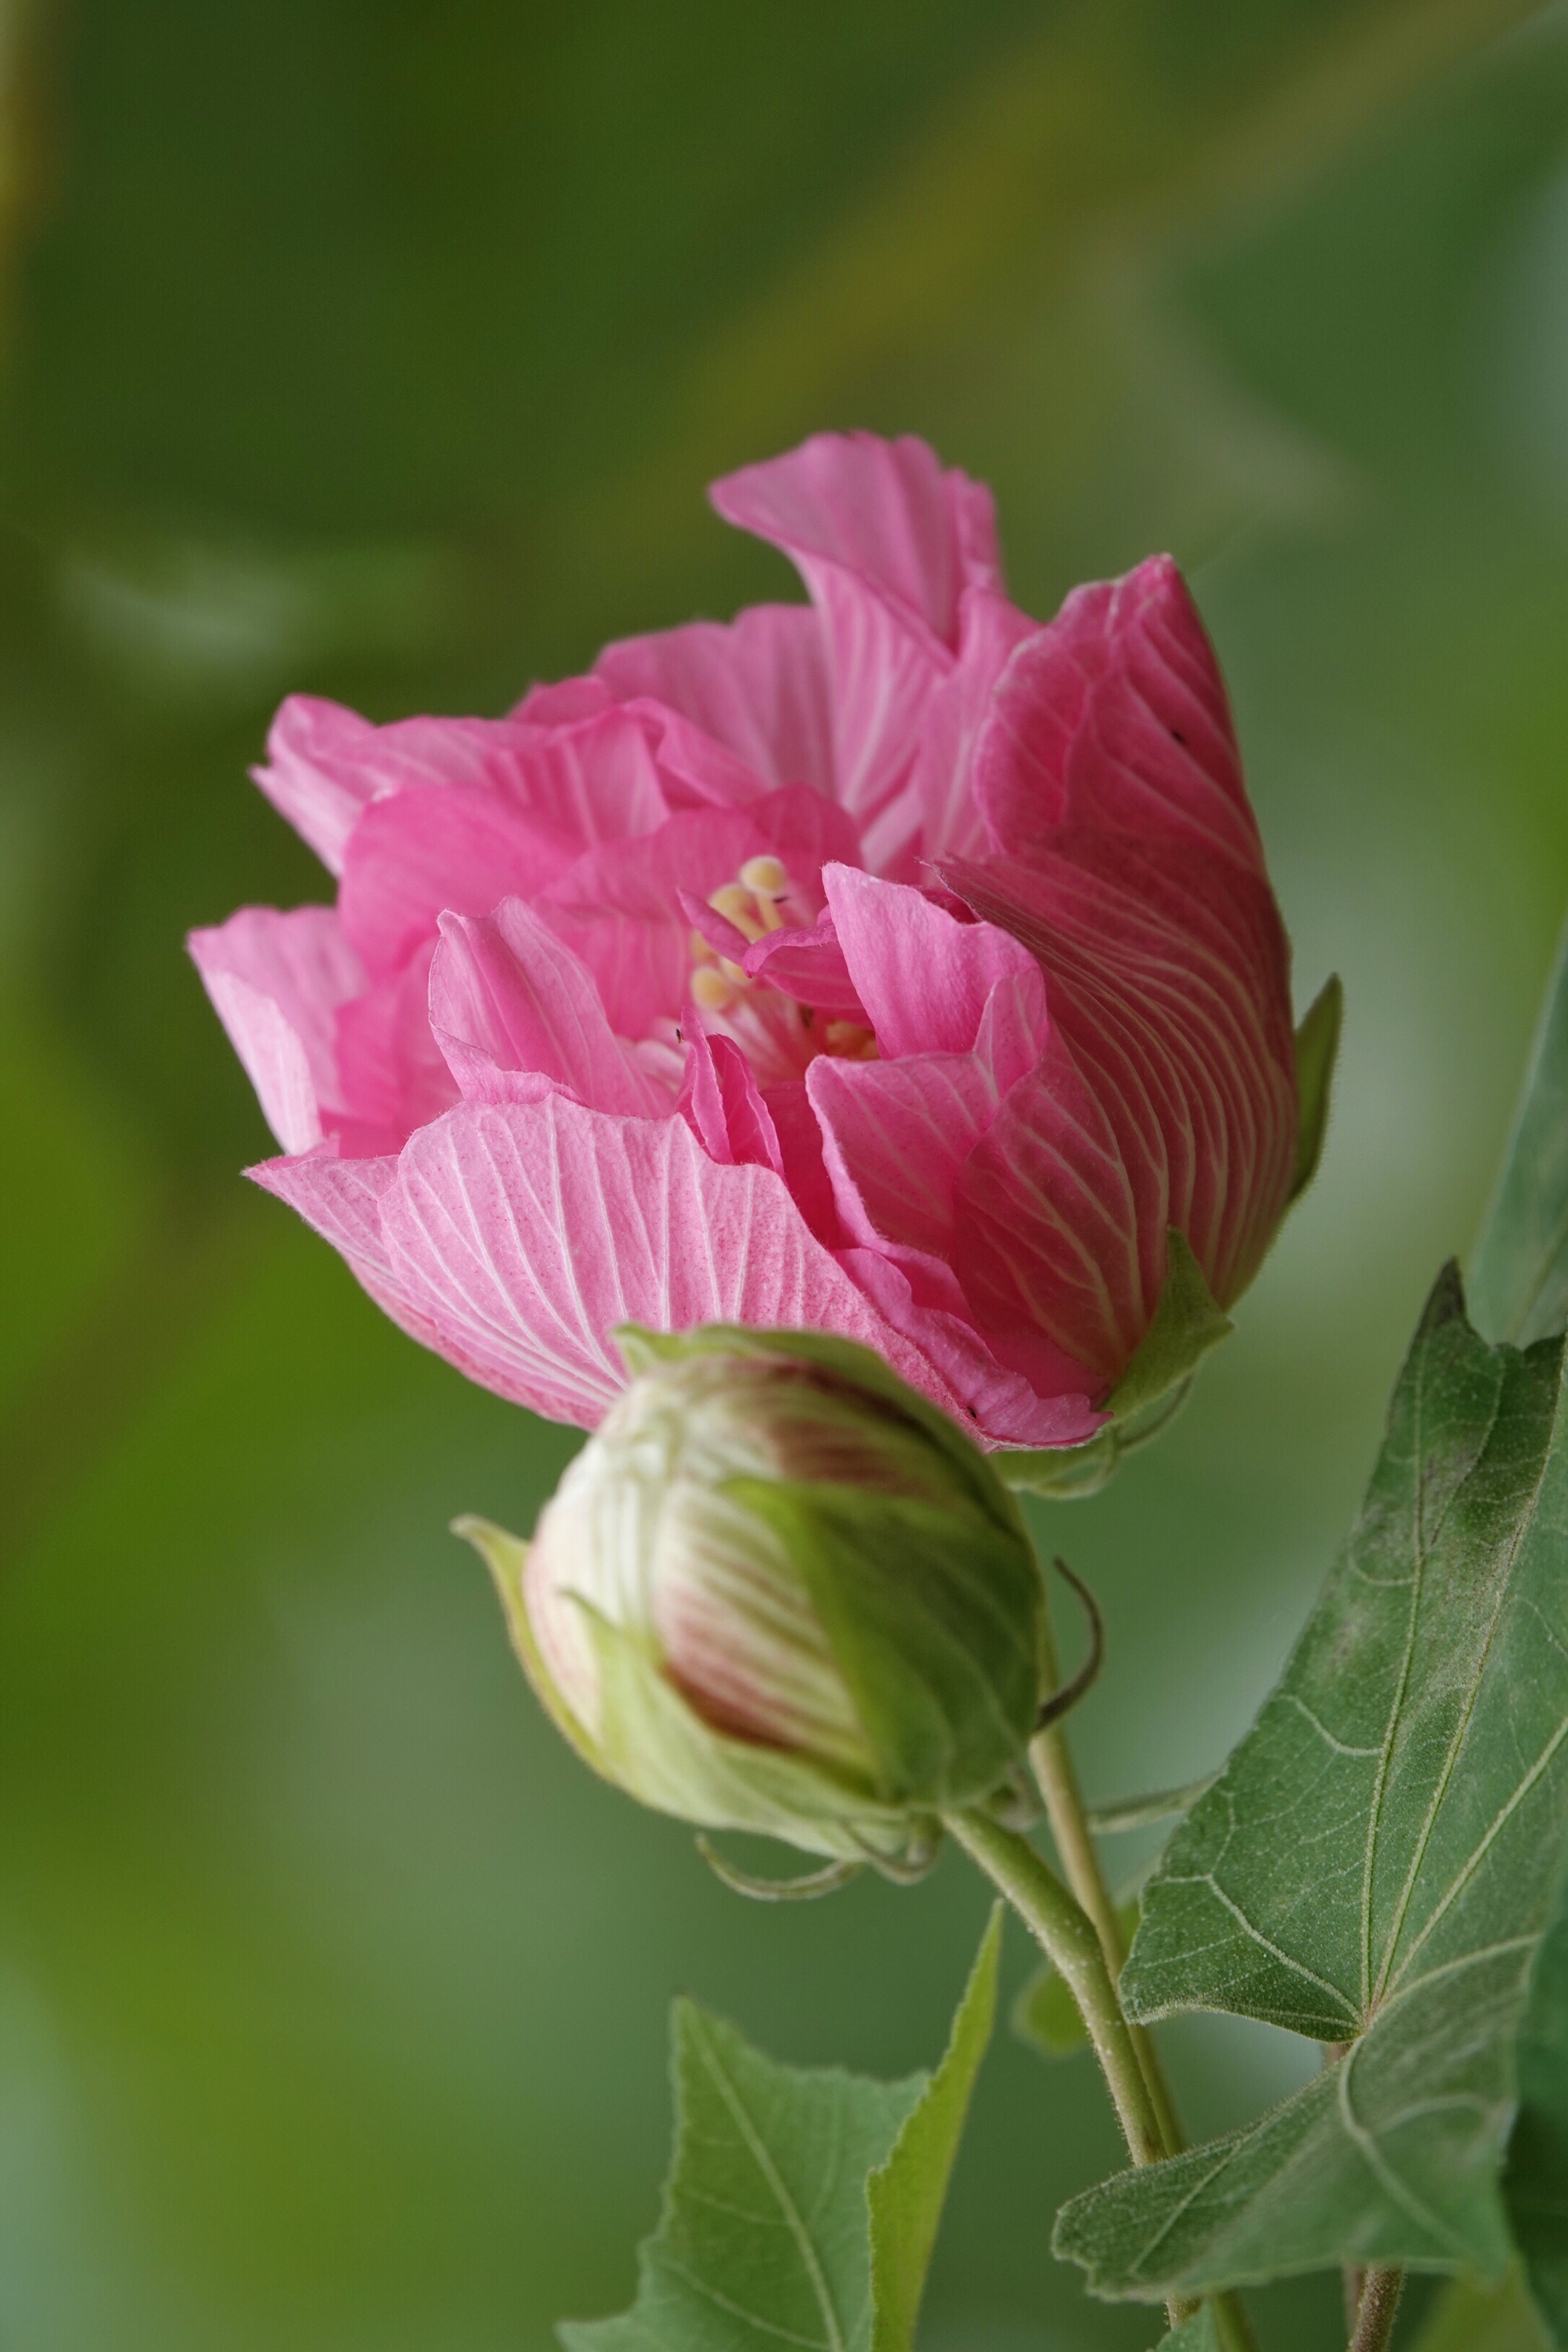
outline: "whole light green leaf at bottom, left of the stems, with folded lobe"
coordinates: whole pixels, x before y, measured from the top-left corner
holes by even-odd
[[[637,2300],[567,2352],[910,2352],[969,2096],[992,2032],[1001,1907],[936,2074],[776,2065],[675,2004],[675,2164]]]

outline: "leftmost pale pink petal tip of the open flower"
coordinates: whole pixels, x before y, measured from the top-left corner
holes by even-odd
[[[268,1127],[287,1152],[308,1152],[322,1141],[322,1105],[341,1108],[339,1004],[364,988],[336,908],[247,906],[188,946]]]

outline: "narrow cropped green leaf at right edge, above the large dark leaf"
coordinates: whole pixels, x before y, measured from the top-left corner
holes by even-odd
[[[1528,1345],[1568,1322],[1568,931],[1469,1275],[1479,1331]]]

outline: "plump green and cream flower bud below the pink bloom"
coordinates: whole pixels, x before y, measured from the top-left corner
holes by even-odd
[[[703,1828],[891,1858],[1039,1700],[1039,1569],[985,1456],[872,1352],[618,1334],[632,1385],[531,1545],[463,1522],[550,1715]]]

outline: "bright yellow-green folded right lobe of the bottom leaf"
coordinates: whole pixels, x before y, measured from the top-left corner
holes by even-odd
[[[997,2023],[999,1962],[1001,1903],[992,1907],[943,2063],[865,2190],[872,2218],[872,2352],[912,2352],[914,2345],[952,2159]]]

